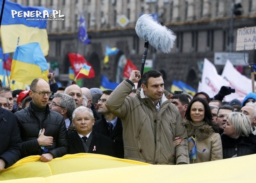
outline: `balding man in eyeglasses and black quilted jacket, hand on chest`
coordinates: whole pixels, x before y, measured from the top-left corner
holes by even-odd
[[[67,153],[68,141],[64,118],[50,110],[50,95],[52,92],[45,80],[33,80],[29,90],[32,101],[28,108],[14,114],[21,132],[21,157],[41,155],[42,162],[49,162]]]

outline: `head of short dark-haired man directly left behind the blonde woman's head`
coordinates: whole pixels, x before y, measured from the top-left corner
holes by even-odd
[[[228,105],[220,106],[218,108],[217,117],[219,125],[219,134],[223,133],[223,125],[227,122],[227,114],[234,111],[234,108]]]

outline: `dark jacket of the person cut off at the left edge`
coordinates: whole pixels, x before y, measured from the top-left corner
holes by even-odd
[[[0,159],[5,168],[10,167],[21,157],[21,138],[14,114],[0,108]]]

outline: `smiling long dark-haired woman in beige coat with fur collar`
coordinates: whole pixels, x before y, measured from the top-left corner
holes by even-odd
[[[193,98],[185,113],[190,163],[223,159],[220,134],[212,118],[208,103],[200,97]],[[175,139],[175,145],[182,141]]]

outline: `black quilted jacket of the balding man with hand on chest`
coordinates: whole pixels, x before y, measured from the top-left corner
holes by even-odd
[[[21,157],[45,153],[37,141],[39,131],[43,128],[45,129],[45,136],[53,137],[53,144],[45,147],[45,149],[52,153],[53,158],[66,155],[68,140],[64,117],[54,110],[50,110],[47,105],[43,122],[40,122],[31,108],[31,102],[27,108],[14,114],[17,118],[22,139]]]

